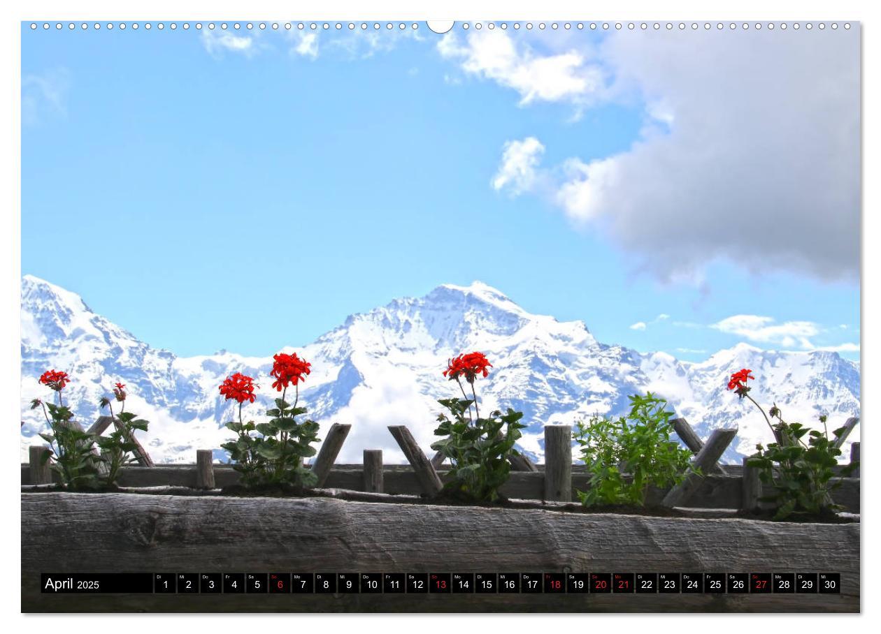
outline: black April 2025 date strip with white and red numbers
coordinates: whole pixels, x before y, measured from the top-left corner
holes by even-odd
[[[839,572],[44,572],[43,594],[840,594]]]

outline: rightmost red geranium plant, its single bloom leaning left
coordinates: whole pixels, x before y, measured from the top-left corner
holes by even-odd
[[[756,445],[757,453],[746,462],[759,469],[759,479],[764,484],[773,487],[772,492],[759,499],[774,503],[775,520],[785,520],[796,513],[824,515],[839,511],[841,506],[833,502],[832,492],[842,483],[840,480],[833,482],[833,468],[841,455],[837,441],[846,428],[834,430],[830,438],[825,414],[819,417],[823,423],[823,432],[820,432],[800,423],[786,422],[777,404],[766,413],[749,394],[751,387],[747,382],[754,379],[751,370],[744,368],[731,375],[728,389],[741,399],[750,400],[774,434],[775,441]],[[772,423],[772,420],[776,422]],[[848,476],[858,466],[859,463],[850,463],[841,468],[840,475]]]

